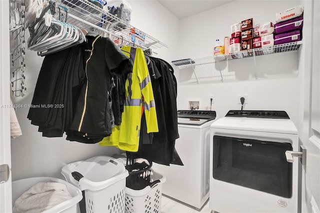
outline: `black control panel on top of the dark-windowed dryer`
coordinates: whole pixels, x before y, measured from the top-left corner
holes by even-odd
[[[285,111],[273,110],[230,110],[226,117],[260,117],[260,118],[282,118],[290,119]]]

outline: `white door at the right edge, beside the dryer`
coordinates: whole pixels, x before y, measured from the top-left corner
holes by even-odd
[[[306,148],[306,165],[302,166],[301,212],[320,213],[320,86],[318,70],[320,43],[319,1],[305,1],[303,17],[304,41],[304,92],[303,122],[299,132]]]

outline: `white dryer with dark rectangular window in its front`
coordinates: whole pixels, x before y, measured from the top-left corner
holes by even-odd
[[[210,209],[297,212],[298,132],[285,111],[230,110],[210,126]]]

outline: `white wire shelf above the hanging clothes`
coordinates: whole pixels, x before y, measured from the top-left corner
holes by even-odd
[[[168,47],[163,42],[137,29],[128,22],[88,0],[52,1],[55,2],[56,6],[67,9],[68,13],[71,14],[67,18],[67,22],[78,28],[85,28],[87,30],[96,30],[97,28],[100,28],[102,32],[107,30],[110,32],[110,37],[112,35],[118,38],[118,42],[121,43],[121,39],[130,41],[142,49]],[[93,28],[92,24],[97,27]],[[113,39],[113,41],[116,42],[116,39]]]

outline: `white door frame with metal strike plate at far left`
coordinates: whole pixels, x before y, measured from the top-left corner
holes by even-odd
[[[9,1],[0,0],[0,164],[11,168],[10,148],[10,57],[9,57]],[[0,183],[0,212],[11,212],[11,172]]]

